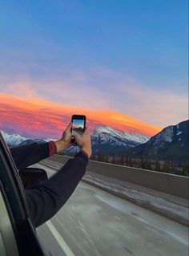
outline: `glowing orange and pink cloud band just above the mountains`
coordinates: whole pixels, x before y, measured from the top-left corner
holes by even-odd
[[[161,130],[157,126],[111,110],[71,108],[46,100],[29,100],[6,94],[0,94],[0,111],[2,130],[38,138],[58,138],[73,114],[86,115],[86,125],[90,132],[99,125],[148,136],[153,136]]]

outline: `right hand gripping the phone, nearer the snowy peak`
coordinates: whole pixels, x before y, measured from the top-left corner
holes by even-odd
[[[90,135],[88,134],[88,132],[85,130],[85,132],[82,133],[82,136],[74,136],[74,139],[76,140],[78,147],[81,148],[81,150],[83,150],[84,152],[86,152],[90,157],[92,153],[92,148]]]

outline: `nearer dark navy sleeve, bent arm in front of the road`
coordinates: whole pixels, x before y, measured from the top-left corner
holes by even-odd
[[[35,226],[49,220],[66,203],[85,174],[87,163],[88,158],[83,152],[78,152],[49,180],[26,189],[26,199]]]

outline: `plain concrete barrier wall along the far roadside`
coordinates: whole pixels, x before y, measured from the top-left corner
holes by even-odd
[[[55,155],[51,156],[50,160],[65,163],[69,158],[68,156]],[[98,161],[90,161],[87,171],[169,193],[176,197],[189,198],[188,177]]]

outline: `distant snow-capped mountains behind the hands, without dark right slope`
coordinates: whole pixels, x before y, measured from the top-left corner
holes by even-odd
[[[6,143],[10,146],[17,146],[18,144],[30,144],[32,142],[42,143],[53,139],[39,140],[39,139],[28,139],[18,134],[9,135],[6,132],[2,132]],[[92,148],[94,153],[103,152],[122,152],[127,148],[133,148],[139,144],[143,144],[149,140],[149,136],[143,136],[138,133],[119,132],[115,128],[108,126],[99,126],[94,129],[91,136]],[[75,147],[70,147],[65,152],[76,152]]]

